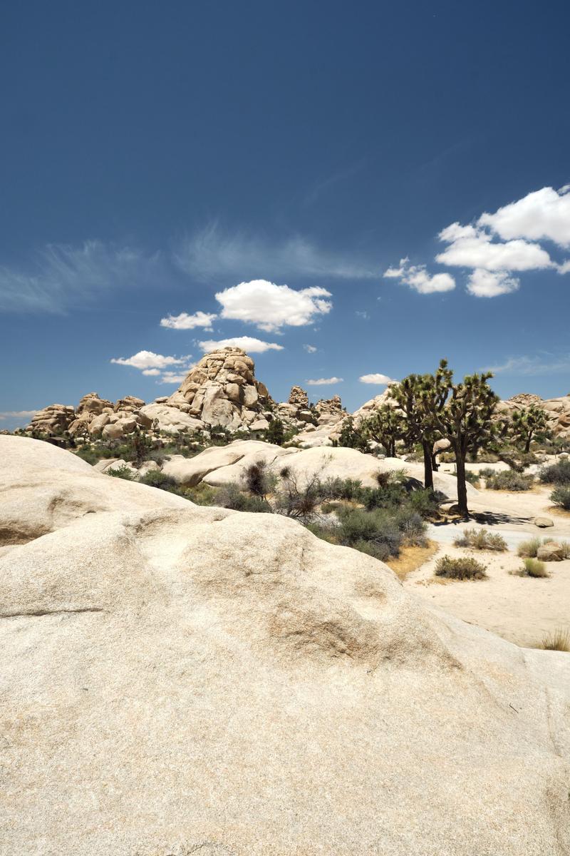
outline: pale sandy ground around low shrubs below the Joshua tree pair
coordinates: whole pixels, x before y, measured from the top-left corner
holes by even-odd
[[[545,633],[558,627],[570,629],[570,560],[548,562],[549,577],[532,579],[509,574],[522,565],[516,554],[521,541],[552,538],[570,541],[570,514],[561,514],[549,502],[550,487],[508,493],[481,490],[470,503],[474,519],[469,523],[430,526],[429,538],[439,544],[438,553],[408,574],[404,586],[426,597],[463,621],[485,627],[517,645],[540,645]],[[549,517],[554,526],[538,529],[535,517]],[[486,528],[506,540],[508,551],[490,553],[453,546],[466,528]],[[487,566],[488,580],[441,581],[433,569],[440,556],[475,556]]]

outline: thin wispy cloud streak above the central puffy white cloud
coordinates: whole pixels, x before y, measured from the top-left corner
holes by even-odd
[[[244,232],[224,234],[216,223],[185,238],[175,260],[192,276],[254,278],[262,272],[273,278],[327,276],[341,279],[375,279],[376,265],[342,253],[315,247],[294,235],[268,241]]]

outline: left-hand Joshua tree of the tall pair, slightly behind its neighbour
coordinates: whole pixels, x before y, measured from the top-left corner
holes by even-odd
[[[421,443],[426,488],[433,489],[433,443],[442,436],[437,417],[450,394],[452,377],[447,360],[441,360],[434,375],[411,374],[391,387],[391,397],[404,415],[408,443]]]

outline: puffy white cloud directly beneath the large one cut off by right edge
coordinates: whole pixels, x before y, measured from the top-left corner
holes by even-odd
[[[484,270],[541,270],[554,267],[549,254],[538,244],[515,240],[493,241],[492,236],[474,226],[451,223],[438,238],[449,244],[436,261],[450,267]]]

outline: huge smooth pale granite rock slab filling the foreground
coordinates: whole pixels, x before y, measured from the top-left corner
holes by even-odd
[[[570,851],[567,654],[277,514],[0,453],[1,852]]]

